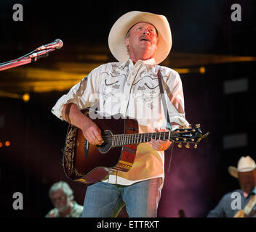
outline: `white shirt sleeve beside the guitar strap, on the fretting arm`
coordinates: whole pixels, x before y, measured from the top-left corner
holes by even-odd
[[[189,123],[185,119],[183,84],[179,73],[171,70],[164,80],[170,123],[177,123],[183,127],[188,127]]]

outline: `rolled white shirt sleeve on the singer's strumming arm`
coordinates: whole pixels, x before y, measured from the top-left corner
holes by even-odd
[[[68,94],[65,94],[57,100],[52,113],[63,120],[62,110],[65,104],[75,103],[79,109],[91,107],[99,99],[100,88],[100,67],[95,68],[89,75],[83,78],[79,83],[73,86]]]

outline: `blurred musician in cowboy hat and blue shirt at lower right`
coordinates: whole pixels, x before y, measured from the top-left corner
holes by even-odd
[[[238,178],[241,189],[225,194],[208,218],[255,217],[256,210],[256,165],[247,156],[239,159],[237,168],[230,166],[228,172]],[[248,204],[248,202],[250,203]],[[245,215],[244,215],[245,214]]]

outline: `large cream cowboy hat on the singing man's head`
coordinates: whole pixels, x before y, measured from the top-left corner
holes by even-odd
[[[156,64],[161,63],[167,58],[172,48],[172,33],[169,28],[169,22],[164,15],[133,11],[119,17],[108,35],[108,46],[111,53],[119,62],[125,62],[129,59],[127,46],[124,43],[125,36],[128,30],[138,22],[149,22],[158,31],[159,42],[154,58]]]

